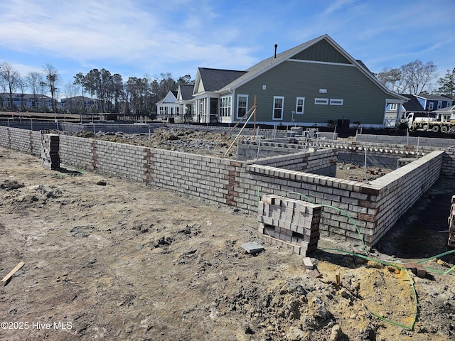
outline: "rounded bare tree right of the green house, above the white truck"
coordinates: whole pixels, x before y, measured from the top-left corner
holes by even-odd
[[[420,60],[400,67],[403,88],[402,92],[421,94],[429,91],[429,86],[437,76],[437,66],[433,62],[422,63]]]

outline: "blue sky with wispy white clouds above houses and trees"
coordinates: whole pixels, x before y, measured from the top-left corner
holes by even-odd
[[[21,75],[53,65],[60,89],[77,72],[196,77],[197,67],[245,70],[328,34],[373,72],[414,60],[455,67],[455,0],[8,0],[0,63]]]

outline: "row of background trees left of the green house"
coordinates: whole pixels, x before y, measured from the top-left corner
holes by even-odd
[[[60,87],[60,75],[53,65],[46,64],[42,72],[28,72],[22,77],[11,63],[0,64],[0,89],[9,98],[8,107],[2,109],[26,109],[21,102],[19,108],[14,104],[14,94],[31,93],[34,98],[32,109],[45,110],[43,94],[50,94],[53,112],[63,109],[57,106],[57,95],[63,98],[74,98],[82,94],[82,98],[91,98],[92,107],[87,109],[83,100],[65,102],[65,110],[73,113],[110,112],[124,115],[154,115],[155,103],[163,99],[169,90],[177,90],[178,85],[194,84],[191,75],[174,80],[171,73],[161,73],[160,78],[129,77],[126,81],[118,73],[109,70],[92,69],[86,74],[78,72],[63,88]],[[28,90],[28,92],[27,92]],[[3,101],[0,100],[0,107]]]

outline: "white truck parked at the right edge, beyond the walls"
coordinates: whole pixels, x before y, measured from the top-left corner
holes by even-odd
[[[429,117],[427,114],[410,112],[407,117],[400,120],[400,123],[407,124],[411,131],[419,129],[431,130],[435,133],[441,131],[441,133],[455,134],[455,114],[451,114],[451,117],[443,117],[441,114]]]

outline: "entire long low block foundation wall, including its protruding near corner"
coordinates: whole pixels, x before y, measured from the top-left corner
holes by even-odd
[[[0,126],[0,144],[38,156],[41,153],[41,134]],[[284,162],[284,159],[279,162]],[[449,155],[444,151],[433,151],[367,184],[254,161],[232,161],[60,135],[61,163],[232,205],[252,214],[257,213],[262,195],[300,193],[305,196],[304,200],[308,198],[318,205],[333,207],[323,207],[321,232],[360,240],[359,231],[368,245],[378,242],[434,184],[441,168],[446,174],[454,174],[454,169],[445,165],[446,160],[454,161],[453,151],[449,151]],[[346,212],[351,219],[348,220],[339,210]]]

